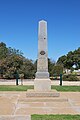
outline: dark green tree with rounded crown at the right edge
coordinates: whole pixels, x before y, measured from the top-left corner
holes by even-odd
[[[72,66],[75,64],[76,69],[80,69],[80,48],[68,52],[66,56],[61,56],[57,63],[62,64],[67,69],[72,69]]]

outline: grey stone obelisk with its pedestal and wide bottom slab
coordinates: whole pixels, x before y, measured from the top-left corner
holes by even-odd
[[[27,97],[58,97],[56,90],[51,90],[48,72],[47,22],[39,21],[38,26],[38,60],[34,80],[34,90],[28,90]]]

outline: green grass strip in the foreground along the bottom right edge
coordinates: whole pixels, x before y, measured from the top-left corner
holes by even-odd
[[[31,120],[80,120],[80,115],[32,115]]]

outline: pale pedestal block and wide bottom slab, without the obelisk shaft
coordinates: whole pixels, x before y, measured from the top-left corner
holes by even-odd
[[[51,90],[50,79],[35,79],[34,90],[28,90],[26,97],[59,97],[60,93]]]

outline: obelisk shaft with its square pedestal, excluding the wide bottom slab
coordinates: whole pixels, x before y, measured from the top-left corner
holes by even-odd
[[[38,26],[38,60],[34,80],[35,91],[50,91],[51,83],[48,72],[47,22],[39,21]]]

